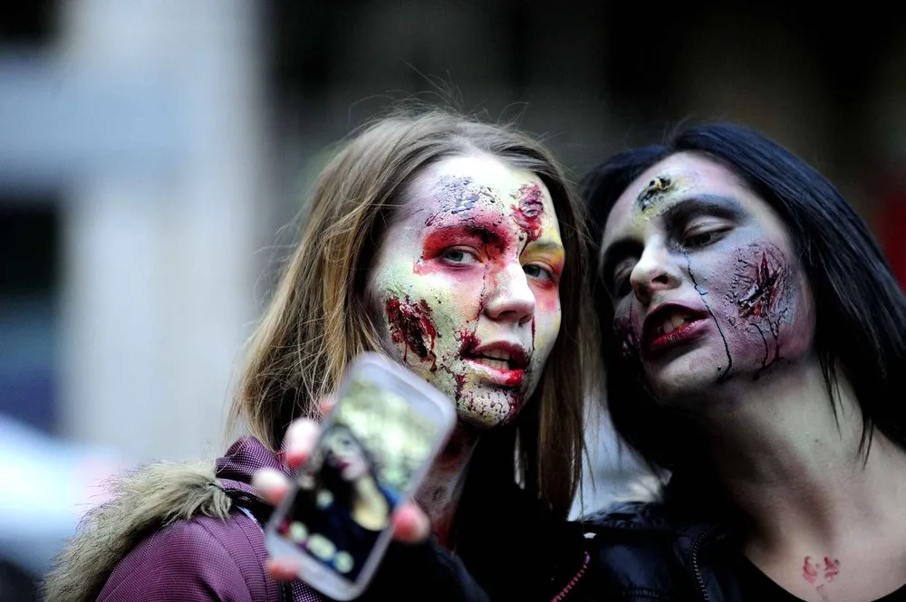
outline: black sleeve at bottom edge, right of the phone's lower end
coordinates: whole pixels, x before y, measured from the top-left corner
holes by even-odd
[[[458,558],[434,540],[418,545],[390,544],[371,585],[358,598],[421,602],[490,602]]]

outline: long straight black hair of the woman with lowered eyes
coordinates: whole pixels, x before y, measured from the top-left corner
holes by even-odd
[[[728,167],[780,215],[814,294],[814,347],[834,412],[841,369],[862,408],[863,453],[871,446],[874,428],[906,449],[906,404],[894,381],[906,375],[906,298],[868,226],[834,185],[786,148],[752,129],[714,123],[679,130],[662,145],[607,159],[583,179],[596,244],[626,187],[679,152],[699,153]],[[658,406],[639,385],[619,353],[613,306],[600,273],[593,282],[613,425],[651,468],[700,472],[704,458],[700,447],[689,444],[691,426]]]

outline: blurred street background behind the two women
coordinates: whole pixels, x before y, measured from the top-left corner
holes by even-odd
[[[793,4],[5,8],[0,600],[34,599],[107,475],[224,449],[277,233],[324,148],[393,100],[518,119],[576,178],[682,120],[741,121],[840,186],[906,282],[903,11]],[[631,483],[602,428],[586,510]]]

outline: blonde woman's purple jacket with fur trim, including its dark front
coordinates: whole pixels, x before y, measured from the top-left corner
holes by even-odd
[[[112,483],[111,502],[90,512],[47,576],[46,602],[320,602],[323,597],[302,581],[281,586],[265,572],[259,521],[270,508],[250,485],[265,467],[284,470],[275,454],[245,437],[214,470],[210,464],[151,464]],[[482,535],[471,568],[495,599],[514,599],[516,592],[524,600],[563,599],[588,562],[583,538],[575,554],[566,553],[559,540],[539,537],[548,530],[544,520],[519,517],[506,531],[498,513],[487,513],[489,524],[477,526]],[[563,522],[554,523],[561,530]],[[360,599],[487,602],[490,591],[461,559],[429,540],[391,544]]]

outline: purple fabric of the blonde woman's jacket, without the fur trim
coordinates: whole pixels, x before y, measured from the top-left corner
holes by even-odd
[[[284,470],[256,439],[233,444],[217,460],[215,473],[233,501],[226,520],[196,516],[152,533],[120,560],[98,602],[319,602],[299,580],[282,597],[281,585],[265,572],[264,531],[243,511],[264,504],[250,483],[265,467]]]

